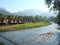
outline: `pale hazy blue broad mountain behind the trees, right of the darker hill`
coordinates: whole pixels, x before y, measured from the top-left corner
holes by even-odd
[[[19,11],[13,14],[19,15],[19,16],[35,16],[35,15],[46,16],[46,17],[55,16],[53,12],[43,12],[43,11],[36,10],[36,9],[23,10],[23,11]]]

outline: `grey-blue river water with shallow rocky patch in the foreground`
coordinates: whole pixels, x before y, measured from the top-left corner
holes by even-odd
[[[44,27],[0,32],[0,35],[18,45],[60,45],[60,32],[57,31],[57,26],[57,24],[52,23]],[[5,45],[15,45],[1,36],[0,42],[5,43]]]

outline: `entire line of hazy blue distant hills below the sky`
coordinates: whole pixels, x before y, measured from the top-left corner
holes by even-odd
[[[28,9],[28,10],[11,13],[7,11],[5,8],[0,8],[0,13],[5,14],[5,15],[13,14],[13,15],[18,15],[18,16],[36,16],[36,15],[46,16],[46,17],[55,16],[55,14],[53,13],[43,12],[43,11],[36,10],[36,9]]]

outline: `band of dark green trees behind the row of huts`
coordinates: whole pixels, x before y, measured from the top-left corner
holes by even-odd
[[[46,17],[41,17],[39,15],[36,16],[17,16],[17,15],[4,15],[0,14],[0,21],[3,22],[5,19],[8,20],[23,20],[23,23],[25,22],[41,22],[41,21],[46,21]]]

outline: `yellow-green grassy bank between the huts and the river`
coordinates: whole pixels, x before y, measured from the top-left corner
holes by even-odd
[[[12,30],[21,30],[33,27],[42,27],[49,25],[49,22],[38,22],[38,23],[25,23],[25,24],[15,24],[15,25],[6,25],[0,26],[0,31],[12,31]]]

